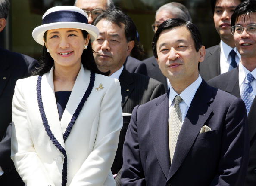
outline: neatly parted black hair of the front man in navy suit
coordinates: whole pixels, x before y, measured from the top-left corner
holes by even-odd
[[[160,24],[160,26],[156,30],[156,33],[153,37],[152,49],[153,49],[153,54],[154,54],[155,58],[157,58],[156,43],[159,38],[159,35],[162,33],[162,31],[173,29],[175,27],[186,27],[187,30],[190,31],[190,34],[191,34],[192,39],[194,40],[194,45],[195,45],[195,49],[197,52],[202,47],[203,43],[202,43],[202,39],[201,39],[201,34],[200,34],[198,28],[196,27],[196,25],[194,25],[193,23],[191,23],[189,21],[184,21],[183,19],[171,18],[171,19],[167,19],[162,24]]]

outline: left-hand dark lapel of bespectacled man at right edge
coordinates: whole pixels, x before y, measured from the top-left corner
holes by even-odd
[[[227,88],[225,89],[225,91],[240,98],[238,67],[231,71],[231,75],[228,80],[228,85],[227,85]]]

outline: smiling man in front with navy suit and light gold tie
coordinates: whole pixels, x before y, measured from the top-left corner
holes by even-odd
[[[210,87],[205,48],[191,22],[163,22],[153,54],[171,87],[132,112],[123,147],[124,186],[243,186],[249,140],[244,102]]]

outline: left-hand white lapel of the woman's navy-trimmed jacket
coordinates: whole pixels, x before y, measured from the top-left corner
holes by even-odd
[[[50,130],[53,135],[59,141],[59,143],[65,148],[62,129],[59,122],[59,113],[56,104],[54,84],[53,84],[53,69],[50,72],[42,76],[42,101],[44,104],[44,112],[50,126]],[[43,124],[42,124],[43,125]]]

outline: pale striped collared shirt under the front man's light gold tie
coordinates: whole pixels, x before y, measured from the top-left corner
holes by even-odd
[[[181,114],[182,114],[182,123],[184,122],[184,119],[187,115],[187,110],[189,109],[191,101],[193,100],[194,95],[196,94],[196,91],[200,86],[201,82],[202,82],[202,78],[199,75],[196,81],[194,81],[184,91],[182,91],[181,94],[179,94],[179,96],[183,100],[179,104],[181,109]],[[169,94],[169,119],[170,119],[171,110],[172,110],[171,108],[174,107],[174,98],[176,95],[178,95],[177,92],[171,86],[170,94]]]

